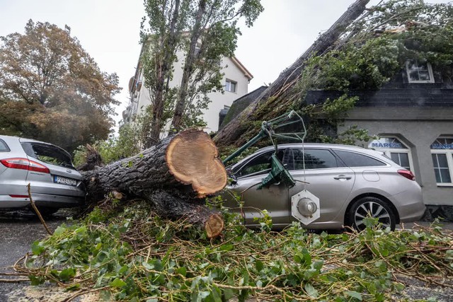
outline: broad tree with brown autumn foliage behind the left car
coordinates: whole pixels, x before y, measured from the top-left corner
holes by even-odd
[[[1,133],[68,151],[108,137],[117,75],[102,72],[69,27],[30,20],[24,34],[0,39]]]

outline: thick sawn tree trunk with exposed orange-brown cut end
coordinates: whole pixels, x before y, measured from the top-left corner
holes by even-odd
[[[226,171],[217,156],[205,132],[188,129],[136,156],[82,172],[86,199],[97,202],[113,192],[145,199],[159,216],[188,219],[215,237],[222,231],[222,216],[205,207],[202,197],[226,185]]]

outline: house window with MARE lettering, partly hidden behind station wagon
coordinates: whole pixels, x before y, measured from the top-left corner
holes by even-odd
[[[382,137],[370,142],[368,148],[382,151],[401,167],[412,170],[411,150],[396,137]]]

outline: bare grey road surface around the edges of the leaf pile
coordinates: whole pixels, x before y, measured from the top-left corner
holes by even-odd
[[[61,223],[67,221],[67,216],[74,215],[75,212],[62,209],[47,219],[47,225],[53,231]],[[420,226],[429,226],[427,222],[416,223]],[[414,223],[406,223],[400,228],[410,229],[415,227]],[[453,223],[445,223],[445,229],[453,230]],[[33,241],[45,238],[47,233],[39,219],[30,212],[0,214],[0,273],[11,273],[11,266],[26,252],[30,250]],[[0,279],[11,279],[0,275]],[[400,294],[394,295],[394,301],[413,301],[418,299],[432,298],[434,301],[449,302],[453,301],[453,289],[449,287],[429,286],[422,281],[408,277],[398,277],[406,284],[406,289]],[[442,280],[440,280],[442,281]],[[453,284],[453,281],[447,281]],[[68,293],[50,284],[43,286],[30,286],[29,282],[20,283],[0,283],[0,302],[41,302],[41,301],[64,301],[73,293]],[[101,297],[96,294],[85,295],[75,298],[72,301],[96,302],[101,301]],[[255,301],[255,300],[251,300]]]

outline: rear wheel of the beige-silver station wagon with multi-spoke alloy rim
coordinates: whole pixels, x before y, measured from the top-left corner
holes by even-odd
[[[371,216],[377,218],[384,228],[389,227],[392,231],[395,229],[396,216],[394,211],[386,202],[377,197],[363,197],[354,204],[348,211],[348,225],[358,231],[365,229],[363,219]]]

